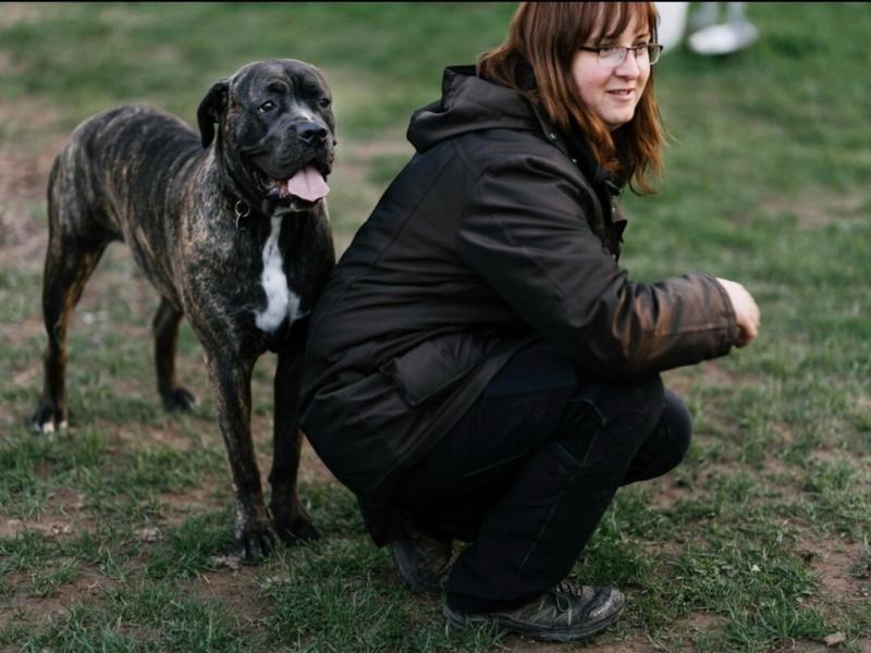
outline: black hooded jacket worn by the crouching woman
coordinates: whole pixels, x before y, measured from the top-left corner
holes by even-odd
[[[517,93],[447,69],[408,139],[417,153],[315,309],[302,394],[303,430],[378,543],[396,479],[524,344],[629,379],[722,356],[737,335],[712,276],[628,281],[608,175]]]

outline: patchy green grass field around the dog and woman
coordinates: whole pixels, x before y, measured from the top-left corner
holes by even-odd
[[[0,649],[758,652],[830,638],[871,651],[869,3],[751,3],[751,49],[675,51],[657,66],[672,141],[660,193],[625,199],[622,263],[639,281],[739,281],[762,330],[747,349],[665,374],[694,415],[694,445],[671,475],[617,494],[578,563],[577,579],[629,599],[596,639],[450,631],[310,449],[302,493],[324,539],[240,566],[199,345],[185,325],[180,375],[200,404],[167,415],[157,294],[122,246],[72,323],[71,429],[51,441],[27,430],[45,346],[45,186],[79,121],[136,101],[195,124],[209,86],[243,64],[315,63],[339,119],[341,250],[410,155],[410,112],[438,96],[443,66],[500,42],[513,9],[0,4]],[[261,471],[273,371],[267,356],[255,374]]]

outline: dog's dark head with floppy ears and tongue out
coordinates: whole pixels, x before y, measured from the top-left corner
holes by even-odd
[[[314,208],[329,190],[335,116],[323,75],[293,59],[249,63],[216,83],[199,104],[203,147],[255,202]]]

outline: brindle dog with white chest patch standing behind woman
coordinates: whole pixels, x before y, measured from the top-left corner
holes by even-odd
[[[70,316],[106,246],[124,241],[161,296],[155,360],[168,409],[195,402],[175,378],[183,316],[203,345],[236,542],[256,562],[279,539],[319,537],[296,492],[297,404],[307,316],[335,263],[323,198],[335,118],[318,69],[272,59],[213,84],[197,123],[198,135],[159,110],[119,107],[82,123],[58,155],[48,184],[45,382],[32,421],[42,433],[66,427]],[[250,433],[252,370],[266,350],[278,354],[271,523]]]

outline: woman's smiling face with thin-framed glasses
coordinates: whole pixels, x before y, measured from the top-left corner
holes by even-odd
[[[584,45],[590,48],[631,47],[648,44],[650,40],[647,26],[639,26],[633,19],[619,36]],[[597,52],[578,50],[572,63],[572,75],[587,108],[613,132],[635,115],[635,107],[650,77],[650,64],[645,57],[637,58],[633,50],[616,66],[600,61]]]

